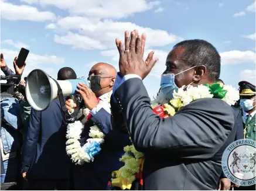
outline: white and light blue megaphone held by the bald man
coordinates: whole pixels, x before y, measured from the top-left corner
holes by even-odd
[[[79,82],[86,84],[84,79],[56,80],[62,89],[63,96],[74,95]],[[26,79],[26,98],[29,105],[37,110],[43,111],[49,107],[50,102],[57,98],[58,87],[53,78],[45,71],[36,69],[29,73]]]

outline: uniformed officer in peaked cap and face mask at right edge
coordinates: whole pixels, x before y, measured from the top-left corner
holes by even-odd
[[[242,120],[244,124],[244,138],[255,141],[255,85],[241,81],[240,86],[240,107],[243,110]]]

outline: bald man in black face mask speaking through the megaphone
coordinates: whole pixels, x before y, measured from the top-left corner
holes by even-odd
[[[94,161],[83,165],[71,165],[71,179],[74,190],[105,190],[111,173],[123,165],[119,161],[124,154],[125,145],[131,144],[129,135],[112,130],[110,97],[114,86],[117,71],[107,63],[95,64],[88,75],[90,88],[85,84],[77,87],[77,92],[83,96],[84,104],[90,110],[91,119],[86,122],[81,133],[81,147],[86,143],[90,127],[97,125],[105,134],[101,150],[94,156]],[[66,107],[71,112],[71,100],[66,101]],[[87,117],[88,119],[88,117]],[[83,123],[83,120],[81,121]]]

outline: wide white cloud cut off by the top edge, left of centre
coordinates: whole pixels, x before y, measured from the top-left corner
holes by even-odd
[[[56,6],[67,10],[70,15],[97,18],[126,18],[129,15],[145,12],[159,5],[159,1],[146,0],[39,0],[42,6]]]

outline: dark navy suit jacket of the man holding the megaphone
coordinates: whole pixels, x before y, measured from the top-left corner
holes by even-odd
[[[90,127],[96,124],[105,134],[101,151],[94,156],[94,161],[83,165],[72,164],[71,177],[74,190],[105,190],[108,181],[112,178],[112,171],[116,171],[124,164],[119,159],[124,155],[124,147],[131,145],[129,134],[122,134],[112,130],[111,114],[101,108],[88,123],[81,133],[81,146],[86,144]]]

